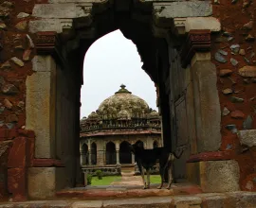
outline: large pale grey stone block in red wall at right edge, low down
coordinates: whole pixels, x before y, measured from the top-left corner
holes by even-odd
[[[239,130],[238,137],[241,145],[256,147],[256,130]]]

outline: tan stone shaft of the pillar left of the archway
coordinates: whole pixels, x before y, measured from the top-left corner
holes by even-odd
[[[51,56],[35,56],[32,67],[35,73],[26,80],[26,128],[36,134],[35,158],[54,158],[56,63]]]

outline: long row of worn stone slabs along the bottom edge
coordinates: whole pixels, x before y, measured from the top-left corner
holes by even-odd
[[[33,200],[0,203],[0,208],[251,208],[256,207],[255,192],[204,193],[138,199]]]

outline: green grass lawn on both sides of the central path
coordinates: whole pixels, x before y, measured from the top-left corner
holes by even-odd
[[[99,180],[97,177],[92,178],[91,185],[110,185],[111,182],[119,182],[121,180],[120,176],[104,176],[102,180]],[[145,180],[147,180],[147,176],[145,176]],[[160,183],[160,176],[150,176],[151,183]]]

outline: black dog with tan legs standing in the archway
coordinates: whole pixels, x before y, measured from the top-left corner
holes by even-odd
[[[155,147],[153,149],[144,149],[143,143],[138,142],[131,145],[131,151],[135,155],[135,160],[137,162],[138,170],[141,174],[142,181],[144,184],[144,189],[150,188],[150,169],[159,161],[159,172],[161,176],[161,184],[157,187],[162,188],[164,182],[164,174],[166,168],[168,168],[168,186],[167,189],[171,188],[173,182],[172,168],[174,164],[174,158],[179,159],[182,155],[184,148],[177,155],[175,152],[168,151],[165,147]],[[144,168],[147,173],[147,183],[144,179]]]

